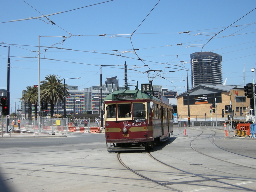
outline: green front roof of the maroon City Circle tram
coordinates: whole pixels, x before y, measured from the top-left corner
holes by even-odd
[[[108,96],[106,96],[105,101],[107,100],[125,100],[124,98],[121,99],[117,99],[115,96],[125,96],[125,95],[133,95],[134,98],[131,99],[154,99],[160,102],[160,99],[150,96],[147,92],[144,91],[140,91],[139,89],[135,89],[135,90],[128,90],[128,89],[124,89],[121,91],[115,91],[111,94],[109,94]],[[127,98],[126,98],[127,100]]]

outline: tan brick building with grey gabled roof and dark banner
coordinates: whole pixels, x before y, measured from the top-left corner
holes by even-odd
[[[188,118],[188,96],[183,92],[176,96],[178,116]],[[250,99],[244,96],[244,86],[199,84],[189,90],[190,118],[211,117],[210,107],[217,100],[217,117],[227,117],[227,107],[232,103],[233,116],[244,116],[246,108],[250,108]],[[248,110],[248,109],[247,109]],[[216,113],[212,113],[215,117]]]

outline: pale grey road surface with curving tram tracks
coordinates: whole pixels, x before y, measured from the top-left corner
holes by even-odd
[[[0,138],[1,191],[254,191],[256,140],[174,128],[153,151],[108,152],[105,135]],[[153,159],[156,158],[156,159]],[[158,161],[157,161],[158,160]],[[164,164],[163,164],[164,163]]]

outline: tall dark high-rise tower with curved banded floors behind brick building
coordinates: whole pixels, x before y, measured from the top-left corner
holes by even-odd
[[[213,52],[190,54],[192,87],[198,84],[222,84],[222,56]]]

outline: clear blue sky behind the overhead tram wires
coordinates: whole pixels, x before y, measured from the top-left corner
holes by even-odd
[[[243,85],[244,63],[245,84],[255,79],[251,68],[256,68],[256,10],[252,11],[256,1],[103,2],[0,0],[0,45],[10,46],[11,104],[27,86],[38,84],[38,36],[68,36],[64,42],[62,37],[40,37],[40,46],[44,46],[40,47],[40,80],[49,74],[61,79],[82,77],[65,81],[79,89],[100,84],[100,65],[120,65],[102,67],[102,79],[104,83],[106,77],[117,76],[124,85],[122,65],[126,61],[130,84],[136,83],[129,79],[136,80],[140,87],[148,83],[147,70],[161,70],[153,84],[182,93],[187,86],[186,71],[166,67],[190,69],[189,55],[201,52],[204,44],[202,51],[222,55],[226,84]],[[53,14],[47,16],[49,20],[41,17],[49,14]],[[29,17],[40,18],[22,20]],[[8,22],[12,20],[20,21]],[[138,49],[136,54],[133,49]],[[0,87],[7,87],[7,56],[8,48],[0,46]]]

